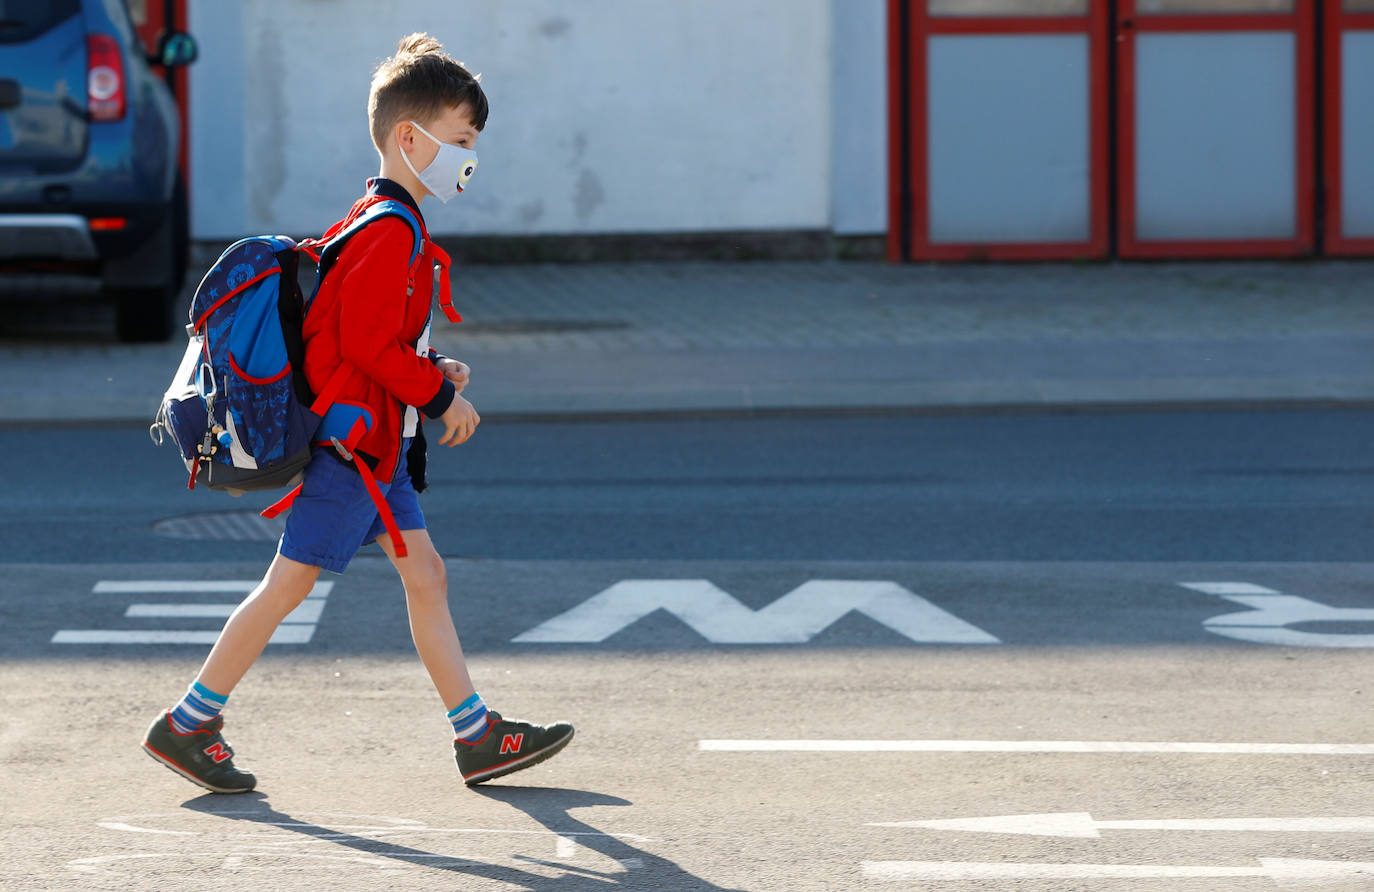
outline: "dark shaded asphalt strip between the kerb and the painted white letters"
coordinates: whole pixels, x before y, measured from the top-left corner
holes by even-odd
[[[431,449],[422,504],[463,558],[1362,561],[1370,443],[1369,410],[493,422]],[[271,557],[150,536],[272,498],[188,492],[140,429],[7,427],[0,455],[0,561]]]

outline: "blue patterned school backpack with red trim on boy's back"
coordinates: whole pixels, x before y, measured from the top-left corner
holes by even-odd
[[[205,274],[191,300],[190,344],[150,429],[154,443],[168,434],[181,451],[188,489],[199,482],[242,495],[294,487],[322,438],[333,438],[352,459],[342,443],[350,432],[320,430],[320,421],[353,367],[345,363],[320,393],[312,393],[301,327],[348,241],[386,216],[411,225],[414,267],[425,247],[423,230],[409,208],[387,199],[320,241],[284,235],[238,241]],[[302,254],[311,263],[317,258],[309,298],[297,280]],[[356,440],[361,432],[352,433]],[[365,469],[363,462],[356,466]],[[284,510],[289,499],[279,504]]]

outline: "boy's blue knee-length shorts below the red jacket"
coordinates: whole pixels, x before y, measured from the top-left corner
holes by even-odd
[[[425,514],[405,469],[405,451],[390,484],[378,482],[400,529],[425,529]],[[305,466],[305,482],[291,503],[286,532],[276,550],[301,564],[342,573],[357,550],[386,533],[363,478],[344,465],[328,447],[316,447]]]

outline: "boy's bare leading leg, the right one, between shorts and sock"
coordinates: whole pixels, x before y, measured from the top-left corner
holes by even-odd
[[[376,543],[392,559],[405,586],[405,606],[411,616],[411,638],[415,650],[430,673],[445,709],[453,709],[475,693],[467,673],[463,646],[458,642],[453,616],[448,610],[448,573],[444,558],[425,529],[403,529],[408,557],[397,558],[387,535]]]

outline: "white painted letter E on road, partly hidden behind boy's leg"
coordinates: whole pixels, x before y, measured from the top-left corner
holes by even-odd
[[[205,594],[235,592],[247,594],[257,587],[251,580],[100,580],[93,587],[95,594]],[[328,580],[316,581],[315,587],[276,628],[269,645],[308,645],[315,636],[315,628],[324,613],[324,605],[334,590]],[[135,620],[148,618],[225,618],[236,603],[132,603],[124,616]],[[220,636],[218,629],[58,629],[49,643],[54,645],[213,645]]]

